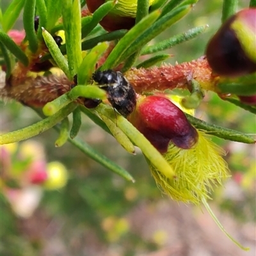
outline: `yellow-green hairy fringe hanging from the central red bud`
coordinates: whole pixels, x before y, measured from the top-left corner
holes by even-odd
[[[176,179],[166,179],[154,166],[150,170],[157,185],[173,200],[199,205],[203,198],[210,198],[212,186],[222,185],[230,176],[223,154],[205,132],[198,131],[195,147],[184,150],[170,144],[164,154],[175,170]]]

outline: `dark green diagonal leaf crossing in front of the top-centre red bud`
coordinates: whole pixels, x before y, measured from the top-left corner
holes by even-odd
[[[100,20],[102,20],[115,7],[115,4],[116,1],[107,1],[93,13],[92,21],[83,27],[82,38],[87,36],[92,31],[92,29],[95,28],[97,24],[99,24]]]

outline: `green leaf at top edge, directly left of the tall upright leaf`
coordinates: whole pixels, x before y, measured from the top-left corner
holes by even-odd
[[[61,16],[61,7],[62,0],[47,0],[46,8],[47,8],[47,27],[48,31],[55,26],[57,20]]]

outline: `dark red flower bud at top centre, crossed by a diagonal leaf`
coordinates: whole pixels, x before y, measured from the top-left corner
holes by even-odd
[[[93,13],[104,4],[105,0],[87,0],[87,8]],[[129,17],[129,13],[126,16],[118,15],[118,13],[109,12],[101,21],[100,25],[107,31],[115,31],[118,29],[131,29],[135,24],[135,18]]]

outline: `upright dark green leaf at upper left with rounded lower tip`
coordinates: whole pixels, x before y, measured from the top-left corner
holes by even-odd
[[[35,8],[36,0],[26,0],[23,11],[23,26],[26,32],[26,38],[29,42],[31,52],[38,49],[38,40],[35,32]]]

